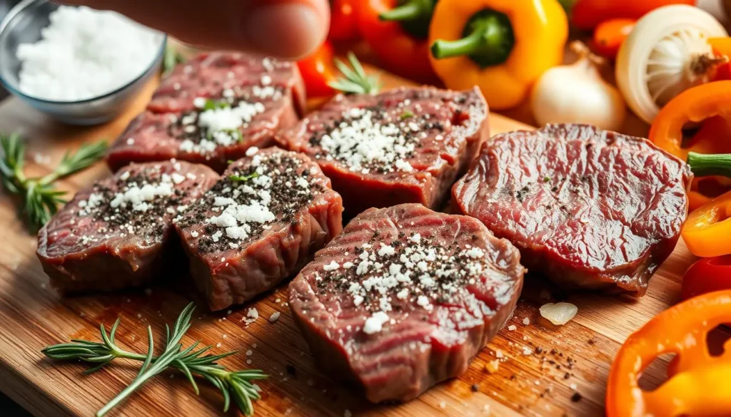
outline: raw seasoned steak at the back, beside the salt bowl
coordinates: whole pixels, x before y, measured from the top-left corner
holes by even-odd
[[[175,67],[147,111],[117,139],[107,161],[178,158],[221,172],[252,146],[273,145],[276,131],[303,110],[295,64],[241,53],[202,54]]]

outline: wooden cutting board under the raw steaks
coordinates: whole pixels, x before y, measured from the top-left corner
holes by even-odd
[[[409,84],[389,74],[382,79],[387,87]],[[143,109],[153,88],[149,85],[134,108],[118,120],[86,129],[55,123],[9,99],[0,104],[0,131],[22,131],[29,148],[29,172],[44,174],[67,149],[84,141],[114,139]],[[491,115],[491,129],[496,134],[531,128]],[[107,173],[104,164],[97,164],[61,186],[74,191]],[[150,324],[156,337],[162,337],[163,324],[177,318],[189,297],[178,288],[152,286],[61,299],[48,286],[35,256],[36,239],[15,217],[7,195],[0,196],[0,230],[0,390],[36,416],[93,416],[134,378],[139,364],[118,361],[85,375],[86,365],[49,361],[40,350],[70,338],[97,340],[99,324],[108,328],[121,317],[118,343],[143,353],[145,326]],[[257,416],[601,416],[616,351],[629,334],[678,301],[681,275],[693,260],[680,242],[641,299],[569,296],[579,313],[565,326],[553,326],[540,317],[537,309],[549,301],[545,297],[550,288],[529,280],[515,315],[464,375],[403,405],[370,405],[356,391],[318,372],[289,314],[286,285],[229,312],[208,313],[200,307],[183,342],[202,340],[219,353],[238,349],[240,353],[223,364],[267,372],[270,378],[260,383],[262,399],[255,404]],[[260,318],[246,326],[243,315],[253,306]],[[274,312],[281,317],[270,323]],[[496,372],[485,370],[485,364],[500,356]],[[645,374],[649,383],[659,383],[662,364]],[[196,397],[180,374],[160,375],[109,416],[223,414],[220,394],[208,383],[200,386],[201,395]]]

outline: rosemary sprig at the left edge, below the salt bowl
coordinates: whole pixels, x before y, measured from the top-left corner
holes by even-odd
[[[29,178],[23,173],[26,149],[20,135],[0,133],[0,182],[18,197],[20,213],[25,216],[30,232],[37,232],[56,214],[58,206],[66,203],[61,198],[66,193],[56,190],[53,183],[91,166],[106,150],[107,144],[101,141],[82,145],[76,153],[66,153],[50,174]]]

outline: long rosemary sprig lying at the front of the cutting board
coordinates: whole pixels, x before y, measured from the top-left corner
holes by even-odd
[[[121,391],[114,399],[107,403],[101,410],[96,413],[97,417],[104,416],[107,411],[124,401],[129,394],[139,389],[145,381],[158,375],[167,368],[173,368],[183,372],[183,375],[190,381],[195,394],[199,394],[197,383],[193,375],[199,375],[208,380],[213,386],[221,391],[224,397],[224,413],[229,410],[231,399],[235,405],[246,416],[254,413],[254,405],[252,401],[260,399],[257,386],[251,383],[252,380],[267,378],[261,370],[243,370],[230,371],[219,365],[217,362],[235,351],[221,353],[219,355],[203,355],[211,349],[211,346],[197,349],[200,342],[193,343],[186,349],[182,349],[181,339],[188,329],[190,329],[190,319],[194,310],[193,303],[190,303],[175,321],[173,332],[170,327],[165,325],[165,349],[160,356],[153,356],[154,342],[152,337],[152,329],[147,327],[148,335],[148,351],[145,355],[139,353],[125,351],[120,348],[114,340],[119,319],[114,322],[109,334],[104,324],[100,327],[102,334],[102,342],[91,342],[88,340],[74,339],[72,343],[61,343],[60,345],[48,346],[44,348],[42,353],[51,359],[59,360],[80,360],[86,361],[96,366],[86,370],[86,373],[95,372],[102,369],[105,365],[117,358],[132,359],[135,361],[143,361],[137,378],[132,381],[123,391]]]

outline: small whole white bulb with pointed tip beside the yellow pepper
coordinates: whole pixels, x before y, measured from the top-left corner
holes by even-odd
[[[581,42],[572,43],[579,54],[571,65],[555,66],[534,85],[531,109],[539,126],[547,123],[588,123],[617,130],[626,116],[619,91],[599,74],[602,58],[589,53]]]

